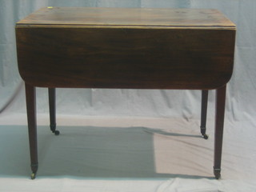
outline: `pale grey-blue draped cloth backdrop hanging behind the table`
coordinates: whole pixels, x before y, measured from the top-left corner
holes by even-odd
[[[0,111],[17,95],[18,74],[14,25],[19,19],[42,6],[122,6],[182,7],[221,10],[238,28],[234,74],[228,86],[227,117],[250,120],[254,117],[255,9],[254,0],[186,0],[186,1],[85,1],[85,0],[0,0]],[[46,90],[38,90],[38,112],[46,113]],[[200,92],[183,90],[58,90],[59,114],[110,116],[146,116],[199,118]],[[210,91],[210,102],[214,102]],[[65,105],[62,105],[65,103]],[[25,112],[24,103],[8,111]],[[182,107],[185,106],[185,107]],[[68,109],[68,110],[67,110]],[[210,114],[210,117],[212,114]]]

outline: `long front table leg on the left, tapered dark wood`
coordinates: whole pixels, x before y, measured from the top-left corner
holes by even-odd
[[[31,178],[34,179],[38,170],[38,142],[37,142],[37,122],[36,122],[36,98],[35,87],[29,84],[26,87],[26,113],[30,141],[30,162]]]

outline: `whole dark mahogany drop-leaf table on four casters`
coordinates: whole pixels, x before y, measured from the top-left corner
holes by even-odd
[[[214,175],[220,178],[226,83],[236,27],[218,10],[46,7],[16,24],[18,70],[26,84],[30,160],[38,170],[35,87],[216,90]]]

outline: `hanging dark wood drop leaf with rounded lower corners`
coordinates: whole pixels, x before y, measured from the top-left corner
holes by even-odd
[[[42,87],[215,89],[230,80],[235,30],[17,27],[18,69]]]

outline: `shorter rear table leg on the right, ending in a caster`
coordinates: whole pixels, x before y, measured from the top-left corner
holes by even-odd
[[[207,102],[208,102],[208,90],[202,90],[202,106],[201,106],[201,134],[202,137],[207,139],[206,134],[206,116],[207,116]]]

